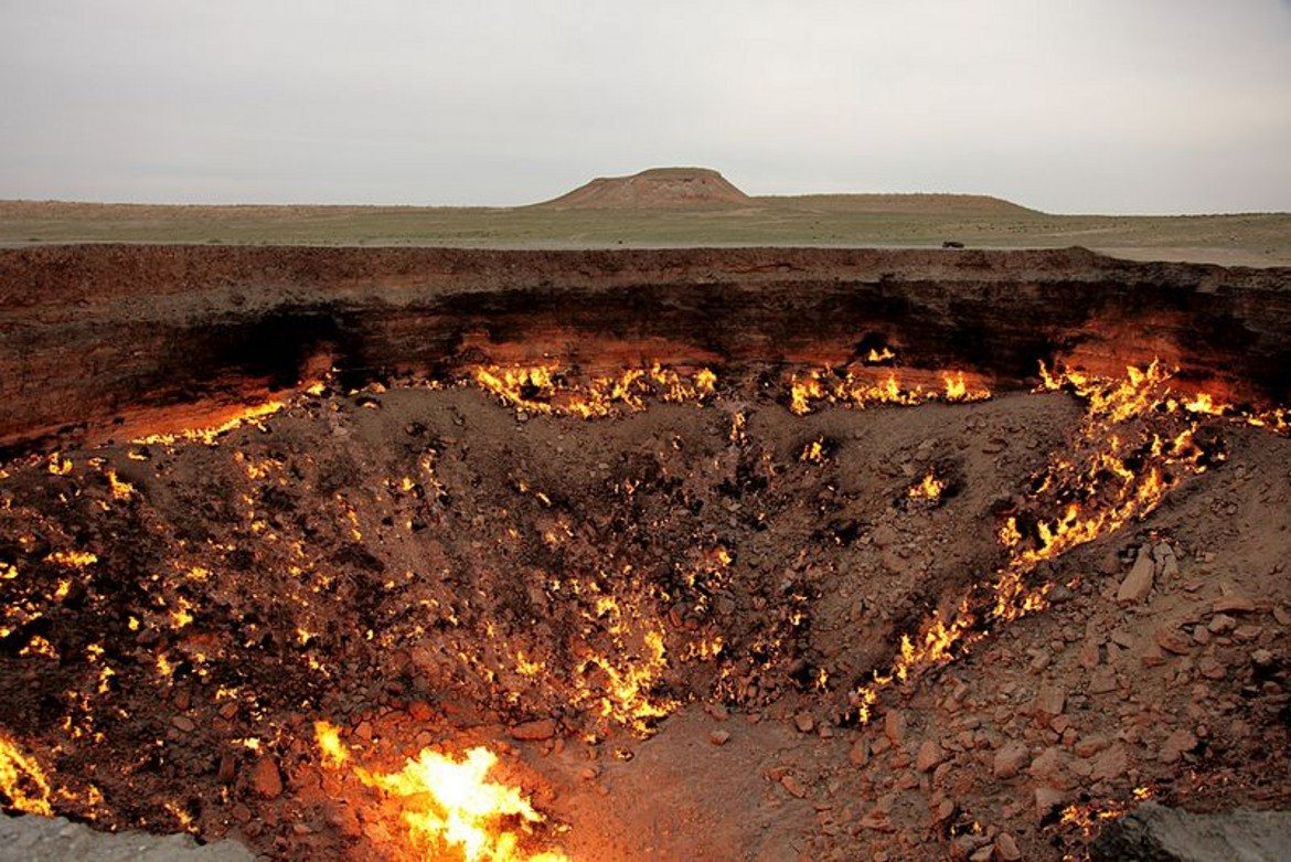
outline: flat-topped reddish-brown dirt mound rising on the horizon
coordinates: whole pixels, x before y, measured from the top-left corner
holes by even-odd
[[[540,206],[553,209],[670,209],[747,205],[753,199],[709,168],[651,168],[630,177],[598,177]]]

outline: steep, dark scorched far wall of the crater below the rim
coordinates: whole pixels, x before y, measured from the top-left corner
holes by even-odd
[[[1287,403],[1287,283],[1079,249],[0,250],[0,445],[198,425],[329,365],[354,386],[544,356],[729,376],[891,347],[999,390],[1039,360],[1119,374],[1155,355],[1229,400]]]

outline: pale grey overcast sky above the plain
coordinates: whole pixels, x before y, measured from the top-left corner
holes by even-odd
[[[0,0],[0,197],[1291,210],[1291,0]]]

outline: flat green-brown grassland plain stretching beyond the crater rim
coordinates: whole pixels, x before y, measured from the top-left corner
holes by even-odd
[[[971,195],[807,195],[750,204],[578,209],[164,206],[0,201],[0,245],[210,243],[482,248],[1086,248],[1133,259],[1291,266],[1291,213],[1053,216]]]

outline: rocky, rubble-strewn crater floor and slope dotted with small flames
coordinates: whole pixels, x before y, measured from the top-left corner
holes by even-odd
[[[1001,564],[1074,399],[582,421],[382,390],[5,467],[0,729],[59,813],[380,858],[398,817],[318,720],[385,768],[492,746],[534,845],[582,859],[1057,859],[1136,794],[1288,804],[1285,437],[1216,421],[1225,463],[857,727],[897,636]],[[928,470],[948,493],[911,499]]]

